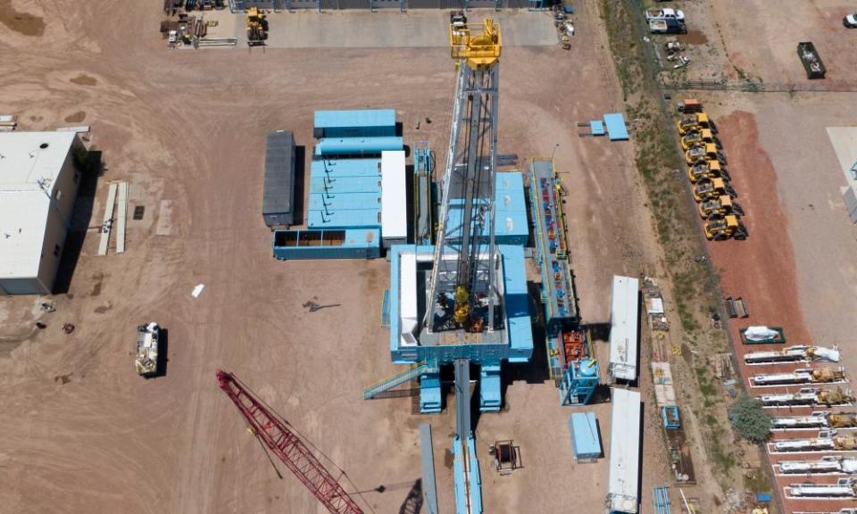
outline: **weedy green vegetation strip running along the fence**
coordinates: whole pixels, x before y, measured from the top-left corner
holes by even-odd
[[[677,132],[661,103],[658,73],[651,42],[645,42],[642,6],[638,0],[601,0],[616,72],[624,94],[629,126],[636,146],[635,161],[645,183],[654,226],[670,273],[673,301],[687,343],[695,359],[728,350],[723,330],[711,330],[708,320],[720,311],[718,277],[711,268],[699,221],[687,192],[686,165],[678,153]],[[699,344],[699,341],[703,344]],[[689,349],[685,349],[688,352]],[[726,406],[707,368],[695,369],[703,409],[694,409],[703,421],[703,444],[714,464],[720,485],[731,484],[736,466]],[[699,415],[704,410],[705,416]]]

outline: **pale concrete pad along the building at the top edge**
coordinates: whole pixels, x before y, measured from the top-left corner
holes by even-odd
[[[240,16],[240,15],[234,15]],[[554,46],[553,19],[545,12],[474,11],[470,21],[492,17],[504,46]],[[274,12],[268,16],[269,48],[407,48],[449,45],[445,11]],[[243,23],[235,23],[238,45],[246,44]]]

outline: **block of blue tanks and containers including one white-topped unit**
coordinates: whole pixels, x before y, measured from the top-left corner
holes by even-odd
[[[307,228],[276,231],[276,258],[375,258],[390,242],[406,242],[397,131],[392,109],[315,112]]]

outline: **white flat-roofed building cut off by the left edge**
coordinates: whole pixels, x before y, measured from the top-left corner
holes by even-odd
[[[80,182],[74,132],[0,133],[0,294],[51,294]]]

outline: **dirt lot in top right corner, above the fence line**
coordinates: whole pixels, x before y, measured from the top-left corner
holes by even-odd
[[[666,70],[664,79],[734,82],[753,80],[768,85],[806,84],[850,87],[857,78],[857,30],[845,29],[842,18],[854,11],[844,0],[720,0],[674,2],[685,12],[686,36],[656,36],[657,42],[677,39],[686,44],[691,64]],[[825,84],[808,81],[797,57],[797,44],[811,41],[828,70]],[[852,88],[853,89],[853,88]],[[851,89],[849,89],[851,90]]]

